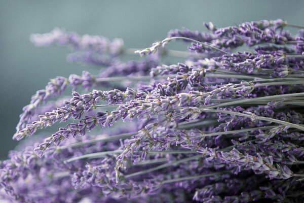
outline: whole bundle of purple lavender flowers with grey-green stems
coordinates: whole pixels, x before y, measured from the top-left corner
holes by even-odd
[[[32,35],[100,74],[56,77],[31,97],[13,136],[18,150],[1,162],[1,198],[303,202],[303,27],[205,26],[171,30],[142,50],[58,28]],[[168,49],[174,41],[188,51]],[[130,54],[143,57],[124,61]],[[59,122],[53,134],[41,130]]]

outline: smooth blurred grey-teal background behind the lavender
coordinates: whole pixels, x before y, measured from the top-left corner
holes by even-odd
[[[304,25],[304,1],[5,1],[0,0],[0,159],[18,144],[12,140],[22,107],[50,78],[98,69],[66,62],[62,47],[36,48],[31,33],[54,27],[80,35],[122,38],[128,48],[145,48],[170,29],[206,30],[261,19]],[[186,49],[179,43],[170,48]],[[138,56],[136,56],[138,57]],[[67,90],[66,95],[70,95]],[[51,133],[51,132],[50,132]]]

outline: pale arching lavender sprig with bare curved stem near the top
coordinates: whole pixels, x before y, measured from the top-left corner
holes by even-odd
[[[145,48],[145,49],[142,49],[142,50],[137,50],[135,51],[134,53],[139,53],[141,56],[143,55],[148,55],[148,54],[153,54],[155,53],[160,47],[164,47],[167,43],[169,43],[171,40],[187,40],[187,41],[192,41],[192,42],[195,42],[195,43],[198,43],[198,44],[201,44],[203,46],[206,46],[206,47],[209,47],[211,49],[215,49],[219,52],[222,52],[222,53],[225,53],[225,54],[229,54],[228,52],[225,52],[221,49],[218,49],[216,47],[213,47],[207,43],[203,43],[203,42],[199,42],[197,40],[193,40],[193,39],[190,39],[190,38],[185,38],[185,37],[168,37],[166,39],[164,39],[163,41],[159,41],[159,42],[156,42],[156,43],[153,43],[151,47],[149,48]]]

